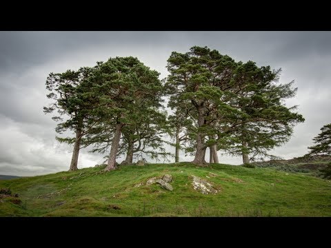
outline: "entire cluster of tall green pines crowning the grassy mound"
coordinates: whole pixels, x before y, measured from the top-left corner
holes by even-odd
[[[172,52],[169,76],[162,81],[139,59],[110,58],[93,68],[50,73],[46,88],[56,131],[74,137],[57,140],[73,144],[70,170],[77,169],[79,150],[109,152],[106,171],[116,169],[116,158],[126,154],[131,164],[137,154],[151,158],[171,155],[165,143],[194,154],[197,165],[219,163],[217,151],[243,156],[243,163],[272,157],[268,152],[287,142],[293,127],[303,122],[297,106],[285,106],[297,88],[280,84],[281,70],[236,62],[217,50],[194,46],[185,54]],[[165,111],[168,99],[171,113]],[[167,139],[170,136],[174,143]]]

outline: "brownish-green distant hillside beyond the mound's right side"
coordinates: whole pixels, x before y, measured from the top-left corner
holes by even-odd
[[[256,167],[269,167],[284,172],[302,172],[310,176],[323,177],[320,169],[324,169],[328,163],[331,163],[330,155],[315,155],[308,158],[299,157],[292,159],[281,159],[271,161],[261,161],[252,163]]]

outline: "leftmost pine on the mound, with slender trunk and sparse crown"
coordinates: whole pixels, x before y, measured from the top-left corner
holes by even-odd
[[[88,133],[88,125],[92,123],[90,110],[92,99],[89,98],[88,85],[84,81],[90,76],[94,68],[80,68],[76,72],[67,70],[63,73],[50,73],[46,81],[46,89],[50,91],[48,99],[52,99],[49,107],[43,107],[46,114],[57,110],[59,115],[53,116],[57,124],[56,132],[62,134],[66,130],[75,132],[74,138],[56,137],[61,143],[74,144],[70,171],[77,170],[79,150],[81,148],[81,139]],[[64,121],[64,118],[66,121]]]

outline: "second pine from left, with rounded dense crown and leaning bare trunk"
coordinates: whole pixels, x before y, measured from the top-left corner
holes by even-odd
[[[105,171],[116,169],[121,134],[125,126],[137,126],[146,110],[161,106],[162,85],[159,72],[150,70],[137,58],[116,57],[99,63],[99,69],[89,79],[98,104],[94,108],[99,119],[96,128],[101,136],[112,129],[110,155]],[[94,135],[94,138],[97,137]]]

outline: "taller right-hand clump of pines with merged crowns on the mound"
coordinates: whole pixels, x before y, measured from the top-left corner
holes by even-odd
[[[170,103],[185,102],[185,111],[197,122],[188,135],[195,139],[193,163],[206,163],[207,147],[210,162],[218,162],[217,149],[224,149],[240,150],[248,163],[250,152],[263,154],[285,142],[292,126],[304,121],[300,114],[291,112],[295,106],[281,104],[295,90],[290,85],[275,86],[279,71],[270,66],[235,62],[217,50],[196,46],[185,54],[172,52],[167,67]]]

